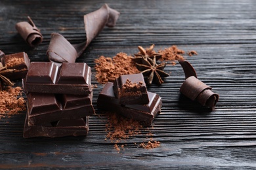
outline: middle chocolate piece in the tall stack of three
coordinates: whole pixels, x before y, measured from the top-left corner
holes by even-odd
[[[91,100],[92,95],[28,93],[28,125],[48,126],[49,122],[93,115]]]

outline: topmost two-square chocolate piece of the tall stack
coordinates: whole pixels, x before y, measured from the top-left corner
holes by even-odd
[[[88,95],[91,89],[91,67],[87,63],[32,62],[26,79],[26,92]]]

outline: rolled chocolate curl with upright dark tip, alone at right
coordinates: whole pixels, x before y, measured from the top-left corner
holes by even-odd
[[[192,101],[198,101],[203,106],[215,109],[215,105],[219,99],[217,93],[211,92],[211,87],[198,80],[196,71],[188,61],[179,61],[181,64],[186,80],[181,85],[180,92]]]

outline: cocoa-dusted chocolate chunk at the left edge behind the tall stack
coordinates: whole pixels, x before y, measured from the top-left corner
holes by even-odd
[[[6,71],[2,74],[10,80],[16,80],[26,77],[28,69],[30,67],[30,59],[28,58],[28,54],[26,54],[25,52],[5,55],[3,58],[1,58],[1,62],[7,70],[13,70]]]

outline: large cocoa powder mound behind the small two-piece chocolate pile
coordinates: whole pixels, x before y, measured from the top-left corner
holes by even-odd
[[[100,56],[95,59],[96,80],[104,84],[106,82],[114,82],[119,75],[130,75],[139,73],[131,56],[120,52],[112,58]]]

